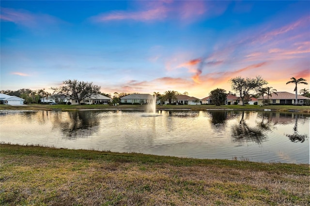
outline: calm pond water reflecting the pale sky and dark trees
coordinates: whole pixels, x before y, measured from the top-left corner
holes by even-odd
[[[309,163],[310,115],[0,110],[0,141],[208,159]]]

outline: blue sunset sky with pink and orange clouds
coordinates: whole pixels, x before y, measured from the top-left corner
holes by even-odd
[[[259,75],[310,82],[310,1],[0,1],[0,90],[77,79],[202,99]]]

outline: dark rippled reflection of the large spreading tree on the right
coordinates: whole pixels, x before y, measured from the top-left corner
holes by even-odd
[[[263,134],[262,130],[257,127],[249,127],[247,122],[244,120],[245,112],[242,112],[239,124],[235,124],[232,127],[233,142],[255,142],[261,144],[266,139],[266,135]]]

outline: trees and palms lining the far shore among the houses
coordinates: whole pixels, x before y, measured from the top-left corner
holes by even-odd
[[[297,103],[297,85],[298,84],[304,84],[308,85],[306,82],[307,80],[304,78],[296,79],[294,77],[291,78],[290,81],[288,81],[286,84],[295,84],[295,103]],[[265,81],[261,76],[256,76],[255,78],[249,78],[249,77],[241,77],[237,76],[235,78],[232,78],[229,80],[231,83],[231,87],[233,91],[236,93],[233,93],[229,91],[226,92],[225,89],[216,88],[212,90],[209,94],[210,99],[216,104],[224,104],[227,95],[228,94],[236,94],[239,96],[239,98],[242,100],[243,105],[245,102],[248,102],[252,97],[258,98],[260,96],[267,95],[266,103],[269,103],[269,97],[272,97],[272,95],[277,95],[277,89],[274,89],[273,87],[263,87],[264,85],[267,85],[268,82]],[[43,89],[39,90],[31,90],[29,88],[22,88],[18,89],[16,91],[12,90],[1,90],[0,93],[20,97],[25,100],[25,103],[40,103],[40,99],[42,98],[48,98],[52,97],[56,100],[56,102],[62,102],[65,98],[73,98],[78,100],[78,103],[80,104],[80,101],[85,98],[90,98],[93,95],[96,94],[102,94],[104,96],[107,96],[112,99],[112,103],[120,103],[121,98],[124,96],[127,96],[129,94],[134,93],[117,93],[114,92],[113,97],[111,94],[107,93],[101,93],[100,89],[101,87],[98,85],[94,85],[93,82],[84,82],[84,81],[78,81],[78,80],[65,80],[62,82],[62,86],[59,88],[50,88],[53,90],[53,93],[49,93]],[[299,93],[305,97],[310,97],[309,89],[301,89]],[[172,101],[177,100],[176,95],[188,95],[188,92],[180,93],[174,90],[168,90],[165,91],[164,94],[160,94],[159,92],[154,92],[153,95],[156,95],[157,101],[160,101],[160,104],[164,103],[165,101],[169,101],[171,104]],[[44,102],[44,101],[43,101]],[[264,102],[264,100],[263,100]]]

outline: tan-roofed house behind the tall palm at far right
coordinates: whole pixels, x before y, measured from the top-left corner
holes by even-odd
[[[278,95],[277,95],[278,94]],[[269,101],[273,104],[295,104],[296,95],[286,92],[286,91],[277,91],[277,94],[272,93],[269,95]],[[258,99],[258,104],[263,105],[263,99],[267,100],[267,95],[261,96]],[[301,95],[297,95],[297,104],[303,104],[304,100],[310,100],[309,97],[304,97]]]

